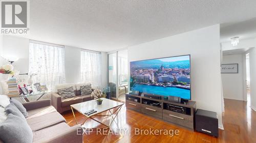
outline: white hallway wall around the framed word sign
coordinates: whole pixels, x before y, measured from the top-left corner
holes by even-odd
[[[224,55],[222,64],[238,64],[239,73],[222,73],[223,96],[227,99],[244,99],[243,54]]]

